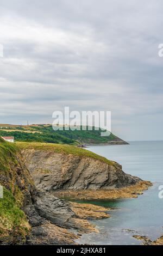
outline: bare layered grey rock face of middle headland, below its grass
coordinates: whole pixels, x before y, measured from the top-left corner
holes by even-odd
[[[91,157],[26,149],[24,162],[39,190],[108,190],[140,181],[122,171],[120,164]]]

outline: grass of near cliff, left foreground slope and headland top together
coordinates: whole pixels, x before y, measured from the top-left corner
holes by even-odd
[[[57,153],[91,157],[107,164],[114,164],[105,157],[72,145],[34,142],[9,143],[0,137],[0,185],[3,186],[4,192],[4,197],[0,199],[0,244],[2,241],[12,244],[20,242],[22,244],[23,241],[26,241],[26,235],[30,229],[26,215],[21,210],[24,193],[27,189],[25,184],[27,181],[28,184],[31,182],[28,174],[21,169],[22,167],[17,160],[21,149],[49,150]],[[21,173],[18,173],[18,170],[21,170]],[[23,186],[25,186],[23,191],[17,186],[18,179],[21,179]]]

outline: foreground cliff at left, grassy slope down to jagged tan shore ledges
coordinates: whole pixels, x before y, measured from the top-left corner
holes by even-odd
[[[97,231],[85,216],[109,217],[104,208],[92,206],[90,212],[89,206],[87,210],[86,206],[37,191],[20,150],[1,138],[0,153],[0,185],[4,190],[0,199],[0,245],[72,244],[78,236],[67,228]]]

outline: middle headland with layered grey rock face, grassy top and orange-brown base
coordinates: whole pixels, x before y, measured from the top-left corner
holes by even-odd
[[[21,147],[37,189],[55,192],[58,197],[136,197],[136,193],[151,185],[151,182],[124,173],[120,164],[84,149],[73,154],[72,146],[66,146],[65,150],[64,146],[58,148],[54,144],[40,148],[37,143],[30,147],[21,143]]]

